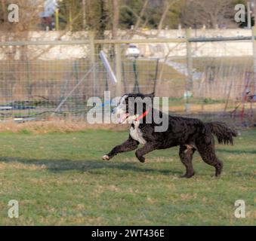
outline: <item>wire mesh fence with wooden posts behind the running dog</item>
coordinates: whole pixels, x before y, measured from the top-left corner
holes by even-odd
[[[86,120],[88,99],[103,98],[104,90],[110,90],[111,97],[155,92],[169,97],[173,114],[254,125],[252,47],[239,52],[239,47],[232,50],[226,41],[215,45],[200,41],[191,44],[188,56],[186,41],[140,40],[133,46],[119,43],[117,58],[114,45],[94,44],[93,53],[90,43],[72,42],[0,48],[1,120],[42,120],[50,115]],[[137,48],[139,54],[130,53],[129,47]],[[109,80],[100,50],[106,53],[114,72],[119,72],[120,93]]]

